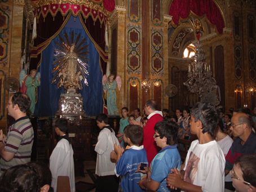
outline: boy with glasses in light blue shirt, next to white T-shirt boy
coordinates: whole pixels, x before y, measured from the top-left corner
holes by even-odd
[[[170,188],[166,186],[166,177],[170,169],[181,165],[179,151],[175,144],[178,139],[178,129],[178,125],[170,120],[161,120],[156,123],[154,138],[161,150],[148,167],[148,178],[138,182],[142,189],[170,191]]]

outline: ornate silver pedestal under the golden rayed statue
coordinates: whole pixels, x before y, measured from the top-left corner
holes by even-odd
[[[59,110],[55,116],[69,120],[82,119],[83,117],[86,117],[85,110],[83,110],[83,99],[81,94],[76,93],[76,90],[61,93],[59,99]]]

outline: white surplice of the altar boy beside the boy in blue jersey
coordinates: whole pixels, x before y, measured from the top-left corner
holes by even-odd
[[[110,154],[114,150],[114,144],[119,145],[117,137],[108,128],[103,128],[98,136],[95,146],[97,154],[95,174],[98,176],[115,175],[116,163],[111,162]]]

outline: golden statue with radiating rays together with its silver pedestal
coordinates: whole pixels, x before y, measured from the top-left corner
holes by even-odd
[[[81,34],[74,37],[74,32],[69,35],[65,32],[63,37],[59,35],[55,44],[52,83],[56,82],[57,88],[64,88],[59,99],[59,110],[55,115],[70,120],[82,118],[86,114],[83,110],[83,98],[78,90],[88,86],[89,65],[86,62],[89,59],[86,56],[89,45]]]

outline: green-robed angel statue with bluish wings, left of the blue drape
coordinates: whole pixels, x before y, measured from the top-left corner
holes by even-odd
[[[34,114],[34,108],[36,105],[36,88],[41,85],[41,74],[36,69],[30,70],[29,75],[26,74],[25,70],[20,72],[20,92],[26,93],[31,101],[29,111]]]

